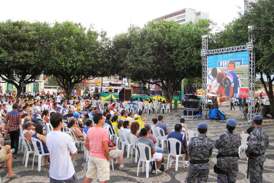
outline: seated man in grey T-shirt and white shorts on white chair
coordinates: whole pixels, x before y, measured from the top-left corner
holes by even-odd
[[[161,163],[162,163],[162,160],[163,160],[163,154],[155,152],[154,143],[152,142],[152,140],[148,139],[149,133],[148,133],[147,128],[142,128],[140,133],[141,133],[142,137],[140,137],[136,140],[136,144],[144,143],[144,144],[150,146],[150,148],[151,148],[151,158],[156,160],[157,174],[162,173],[162,171],[159,170],[158,167],[161,166]],[[140,154],[140,151],[139,151],[138,147],[137,147],[137,150],[138,150],[138,154]],[[145,148],[145,153],[146,153],[146,158],[148,160],[149,159],[148,148]],[[152,173],[156,174],[156,171],[152,170]]]

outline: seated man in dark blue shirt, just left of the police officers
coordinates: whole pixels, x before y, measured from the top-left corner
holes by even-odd
[[[182,134],[182,124],[176,124],[174,127],[175,132],[171,132],[170,134],[168,134],[167,139],[169,138],[176,138],[177,140],[179,140],[182,143],[182,147],[181,147],[181,154],[186,154],[186,159],[185,159],[185,167],[189,167],[189,155],[188,155],[188,144],[187,144],[187,140],[186,140],[186,136],[184,134]],[[179,143],[176,143],[176,153],[179,154]],[[170,143],[168,142],[168,151],[170,151]]]

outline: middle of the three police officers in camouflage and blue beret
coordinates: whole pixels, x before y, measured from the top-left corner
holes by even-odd
[[[228,119],[226,122],[227,132],[220,134],[215,141],[215,148],[218,149],[217,164],[214,172],[218,174],[217,183],[236,182],[239,163],[239,147],[241,137],[233,132],[238,124],[235,119]]]

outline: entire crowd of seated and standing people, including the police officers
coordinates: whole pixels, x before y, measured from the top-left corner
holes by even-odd
[[[133,134],[137,140],[135,142],[138,154],[138,144],[143,143],[150,147],[145,149],[147,159],[156,160],[156,165],[152,165],[149,171],[153,174],[161,174],[164,171],[163,152],[167,148],[170,152],[169,142],[157,146],[157,137],[162,136],[165,139],[175,138],[181,142],[182,148],[176,143],[176,153],[185,154],[184,167],[188,167],[188,174],[185,182],[206,182],[209,173],[209,160],[212,154],[213,146],[218,149],[217,164],[214,166],[215,173],[218,174],[218,182],[235,182],[238,172],[238,148],[241,140],[238,134],[233,130],[237,126],[235,119],[227,120],[227,132],[221,134],[215,143],[207,138],[207,124],[201,123],[197,126],[198,136],[189,139],[187,134],[188,126],[183,118],[180,123],[174,125],[174,129],[168,129],[164,123],[164,117],[152,118],[150,125],[146,118],[143,118],[143,110],[137,114],[126,111],[120,100],[101,105],[87,98],[74,100],[63,100],[63,92],[57,91],[56,94],[36,93],[23,94],[13,98],[13,94],[6,100],[1,100],[0,105],[0,161],[6,160],[6,165],[0,164],[2,168],[8,169],[9,178],[18,178],[12,172],[12,158],[17,158],[19,148],[19,136],[25,140],[27,148],[33,149],[31,138],[41,141],[42,146],[37,143],[39,152],[49,153],[45,156],[45,165],[50,165],[51,182],[77,182],[77,177],[72,164],[73,157],[77,155],[75,141],[82,142],[89,152],[88,169],[84,182],[90,182],[92,178],[98,175],[100,182],[109,180],[110,158],[113,158],[113,165],[119,167],[120,171],[128,171],[130,168],[124,165],[124,150],[119,150],[116,142],[109,138],[109,134],[116,134],[130,142],[129,136],[123,136],[119,131],[125,131],[126,134]],[[33,97],[32,97],[33,96]],[[42,98],[43,97],[43,98]],[[137,105],[140,102],[148,104],[153,103],[152,99],[143,101],[142,99],[131,99],[127,104]],[[162,102],[162,101],[161,101]],[[165,103],[163,101],[162,103]],[[124,103],[125,104],[125,103]],[[50,123],[53,130],[47,130],[46,124]],[[262,118],[257,115],[253,118],[254,129],[250,132],[248,139],[247,156],[251,158],[252,167],[250,171],[251,180],[262,180],[262,165],[265,160],[264,152],[267,148],[268,134],[261,128]],[[63,133],[65,126],[75,134],[73,139],[69,134]],[[109,131],[102,128],[108,124]],[[20,127],[21,126],[21,127]],[[20,128],[22,131],[20,132]],[[162,130],[155,130],[160,128]],[[119,131],[118,131],[119,130]],[[158,132],[157,132],[158,131]],[[160,133],[160,134],[159,134]],[[5,139],[10,137],[11,145],[5,145]],[[263,137],[263,138],[261,138]],[[126,138],[126,139],[125,139]],[[253,143],[263,139],[260,146],[254,146]],[[226,143],[224,143],[226,142]],[[258,143],[257,143],[258,144]],[[225,158],[224,158],[225,157]],[[254,157],[254,158],[253,158]],[[253,159],[252,159],[253,158]],[[258,160],[258,161],[257,161]],[[173,160],[171,165],[173,165]],[[156,168],[155,168],[156,167]],[[259,172],[255,172],[259,168]]]

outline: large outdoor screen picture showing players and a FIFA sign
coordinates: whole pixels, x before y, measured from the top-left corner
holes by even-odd
[[[248,87],[248,51],[207,56],[207,93],[238,97]]]

